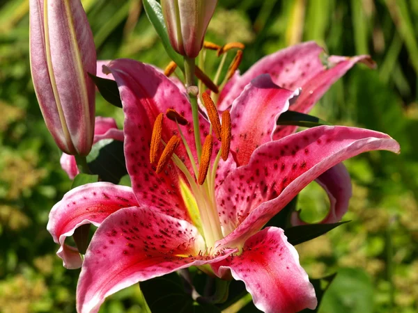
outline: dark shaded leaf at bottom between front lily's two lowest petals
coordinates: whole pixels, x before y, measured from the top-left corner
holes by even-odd
[[[183,282],[177,273],[171,273],[140,283],[148,307],[153,313],[203,312],[220,313],[215,305],[196,303],[185,292]]]

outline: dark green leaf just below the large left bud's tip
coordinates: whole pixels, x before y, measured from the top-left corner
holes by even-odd
[[[118,184],[127,175],[123,142],[113,139],[98,141],[87,156],[88,168],[103,182]]]

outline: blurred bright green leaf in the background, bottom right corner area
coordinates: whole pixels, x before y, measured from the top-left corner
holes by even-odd
[[[357,268],[341,268],[325,293],[320,313],[365,313],[373,310],[373,283]]]

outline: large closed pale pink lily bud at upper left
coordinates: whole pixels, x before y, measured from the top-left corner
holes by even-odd
[[[95,120],[93,34],[80,0],[29,0],[31,74],[49,132],[66,154],[86,156]]]

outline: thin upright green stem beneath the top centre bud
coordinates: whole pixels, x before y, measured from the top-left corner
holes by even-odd
[[[186,88],[194,86],[194,58],[187,58],[187,56],[185,56],[185,80]],[[190,104],[192,104],[194,142],[196,144],[197,157],[200,162],[202,143],[199,130],[199,108],[197,104],[197,95],[196,93],[189,92],[189,97]]]

